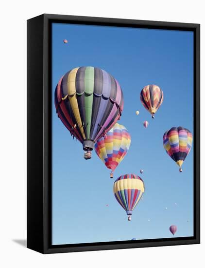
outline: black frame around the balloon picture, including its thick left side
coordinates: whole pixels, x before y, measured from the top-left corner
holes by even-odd
[[[194,236],[51,245],[51,23],[193,31]],[[200,24],[43,14],[27,20],[27,248],[41,253],[200,243]]]

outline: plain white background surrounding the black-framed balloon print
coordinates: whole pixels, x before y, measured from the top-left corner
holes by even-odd
[[[42,13],[201,23],[201,99],[205,98],[202,0],[11,0],[0,14],[0,267],[204,267],[205,173],[201,245],[42,255],[26,249],[26,19]],[[203,104],[203,103],[202,103]],[[203,120],[202,105],[202,161]]]

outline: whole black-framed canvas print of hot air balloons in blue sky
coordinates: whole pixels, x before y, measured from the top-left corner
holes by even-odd
[[[27,247],[200,243],[200,25],[27,21]]]

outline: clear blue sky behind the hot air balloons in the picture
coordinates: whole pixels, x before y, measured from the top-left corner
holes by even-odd
[[[123,90],[119,123],[131,134],[131,146],[114,179],[94,151],[92,159],[83,158],[82,144],[72,140],[56,115],[55,86],[80,66],[104,69]],[[164,92],[155,119],[139,99],[148,84]],[[178,172],[163,148],[163,134],[173,126],[193,134],[192,32],[53,23],[52,244],[167,238],[171,225],[177,225],[175,237],[192,236],[193,147]],[[139,175],[145,184],[131,222],[113,194],[114,180],[126,173]]]

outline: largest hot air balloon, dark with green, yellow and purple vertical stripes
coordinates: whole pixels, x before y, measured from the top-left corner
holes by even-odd
[[[66,73],[55,89],[58,117],[91,158],[95,142],[120,119],[123,94],[118,81],[104,70],[78,67]]]

